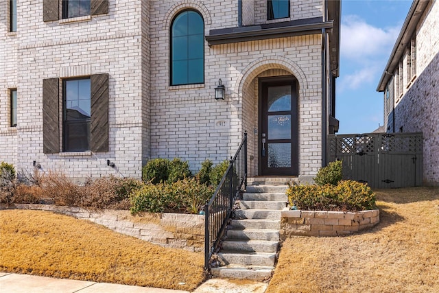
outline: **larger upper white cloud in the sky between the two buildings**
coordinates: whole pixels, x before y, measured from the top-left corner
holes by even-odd
[[[359,16],[344,16],[341,28],[341,54],[342,56],[364,61],[382,54],[390,54],[399,27],[374,27],[366,23]]]

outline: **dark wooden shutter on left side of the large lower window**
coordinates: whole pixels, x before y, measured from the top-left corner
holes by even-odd
[[[59,80],[43,80],[43,152],[60,152]]]

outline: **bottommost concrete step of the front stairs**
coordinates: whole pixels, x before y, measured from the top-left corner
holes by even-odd
[[[273,266],[239,266],[227,265],[219,268],[212,268],[214,277],[227,279],[248,279],[263,281],[272,277],[274,272]]]

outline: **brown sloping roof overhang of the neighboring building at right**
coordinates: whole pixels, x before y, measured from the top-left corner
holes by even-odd
[[[423,15],[425,8],[427,7],[429,0],[414,0],[410,10],[405,18],[401,32],[399,33],[396,43],[390,54],[390,58],[385,65],[381,79],[379,80],[377,91],[384,91],[386,84],[388,84],[390,78],[393,75],[396,67],[399,67],[399,60],[403,56],[407,44],[412,40],[412,36],[416,31],[416,25],[418,25],[420,17]]]

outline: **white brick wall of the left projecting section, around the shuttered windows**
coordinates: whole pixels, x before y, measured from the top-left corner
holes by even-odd
[[[1,1],[1,17],[7,11],[3,10],[7,2]],[[149,27],[141,13],[142,8],[147,13],[147,1],[109,1],[108,14],[83,17],[78,22],[43,22],[42,0],[18,0],[17,6],[16,36],[1,37],[1,56],[10,57],[0,58],[0,74],[2,113],[8,110],[5,88],[15,83],[18,89],[18,125],[16,136],[11,136],[8,121],[1,115],[0,161],[11,161],[19,171],[27,172],[32,170],[32,162],[38,161],[45,170],[62,170],[78,178],[141,176],[142,161],[146,161],[143,154],[149,151],[147,128],[143,128],[149,97],[145,89],[149,83],[149,65],[145,64],[149,51],[142,51]],[[1,30],[3,34],[4,28]],[[3,46],[8,38],[14,38],[15,50]],[[8,80],[4,80],[3,72]],[[43,79],[95,73],[109,75],[109,152],[43,154]],[[116,168],[107,167],[106,159]]]

